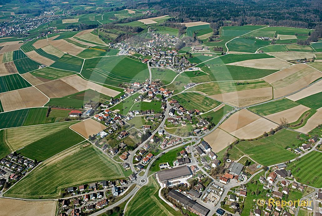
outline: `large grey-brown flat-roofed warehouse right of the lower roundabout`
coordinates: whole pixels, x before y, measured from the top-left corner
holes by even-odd
[[[168,185],[175,185],[175,183],[180,183],[180,181],[176,181],[178,179],[191,177],[192,171],[188,166],[180,166],[157,172],[157,178],[159,178],[159,181],[163,183],[164,187],[167,187]]]

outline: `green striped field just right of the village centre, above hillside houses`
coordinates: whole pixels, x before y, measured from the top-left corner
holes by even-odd
[[[172,97],[186,110],[197,109],[201,112],[209,111],[221,103],[199,93],[181,93]]]

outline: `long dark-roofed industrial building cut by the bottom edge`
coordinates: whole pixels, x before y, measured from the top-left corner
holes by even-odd
[[[168,193],[169,198],[175,200],[176,202],[180,203],[185,209],[200,215],[200,216],[206,216],[208,212],[210,211],[209,209],[205,208],[204,206],[200,205],[199,203],[189,199],[185,195],[175,191],[171,190]]]

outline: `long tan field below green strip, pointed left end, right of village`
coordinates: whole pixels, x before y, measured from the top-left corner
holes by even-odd
[[[271,87],[264,87],[258,89],[247,89],[236,92],[214,94],[210,95],[209,97],[237,107],[243,107],[268,101],[272,99],[273,93]]]

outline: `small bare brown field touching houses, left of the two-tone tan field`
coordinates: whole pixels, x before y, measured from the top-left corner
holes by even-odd
[[[213,132],[204,137],[204,141],[208,142],[214,152],[220,152],[237,139],[220,128],[216,128]]]

